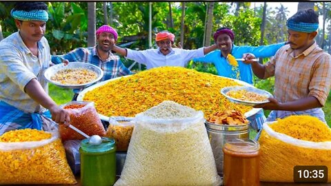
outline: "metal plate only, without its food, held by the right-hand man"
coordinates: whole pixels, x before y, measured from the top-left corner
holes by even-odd
[[[255,105],[259,105],[259,104],[262,104],[262,103],[268,103],[269,101],[266,100],[266,101],[243,101],[243,100],[240,100],[240,99],[234,99],[230,96],[228,96],[228,93],[229,91],[238,91],[238,90],[247,90],[249,92],[255,92],[257,94],[260,94],[262,96],[267,96],[268,98],[269,97],[272,97],[272,94],[270,94],[270,92],[267,92],[265,90],[261,90],[261,89],[258,89],[256,87],[250,87],[250,86],[231,86],[231,87],[223,87],[221,89],[221,94],[223,94],[223,96],[225,96],[229,101],[233,102],[233,103],[239,103],[241,105],[246,105],[246,106],[255,106]]]

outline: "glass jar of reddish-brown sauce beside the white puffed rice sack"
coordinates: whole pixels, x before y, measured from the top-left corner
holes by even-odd
[[[234,139],[225,143],[223,147],[224,185],[260,185],[259,148],[259,143],[250,139]]]

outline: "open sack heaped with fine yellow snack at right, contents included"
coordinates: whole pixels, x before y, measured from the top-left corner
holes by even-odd
[[[269,126],[269,129],[263,127],[259,138],[261,181],[293,182],[293,169],[297,165],[325,165],[331,169],[331,130],[318,118],[288,116]],[[288,136],[274,136],[275,132]],[[291,142],[290,136],[297,140]],[[330,171],[328,182],[331,182]]]

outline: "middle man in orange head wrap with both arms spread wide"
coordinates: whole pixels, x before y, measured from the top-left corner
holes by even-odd
[[[150,69],[161,66],[185,67],[191,59],[202,57],[217,48],[216,45],[210,45],[209,47],[202,47],[195,50],[172,48],[174,34],[168,31],[159,32],[155,40],[157,41],[157,49],[137,51],[128,48],[120,48],[119,46],[114,45],[112,50],[122,56],[126,56],[128,59],[142,63],[146,65],[147,69]]]

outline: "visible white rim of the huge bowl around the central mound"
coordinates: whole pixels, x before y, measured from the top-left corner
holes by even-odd
[[[97,83],[95,85],[92,85],[90,87],[87,87],[86,89],[84,89],[83,91],[81,91],[79,93],[79,95],[77,96],[77,101],[83,101],[83,98],[84,98],[85,94],[87,92],[90,92],[90,91],[96,89],[97,87],[101,87],[102,85],[106,85],[110,81],[115,81],[117,79],[126,78],[126,77],[128,77],[128,76],[121,76],[121,77],[117,77],[117,78],[114,78],[114,79],[108,79],[107,81],[102,81],[100,83]],[[230,79],[230,78],[227,78],[227,77],[224,77],[224,76],[222,76],[222,77],[225,78],[225,79]],[[230,80],[236,81],[237,83],[239,83],[241,85],[244,85],[244,86],[254,87],[253,85],[250,85],[249,83],[246,83],[244,81],[240,81],[238,79],[230,79]],[[252,110],[249,110],[248,112],[245,112],[244,115],[245,115],[246,118],[248,118],[250,116],[253,116],[254,114],[257,114],[257,112],[259,112],[260,110],[262,110],[262,109],[261,108],[252,108]],[[110,119],[109,116],[105,116],[103,114],[99,114],[99,116],[100,116],[101,120],[103,120],[103,121],[107,121],[108,122],[109,119]]]

